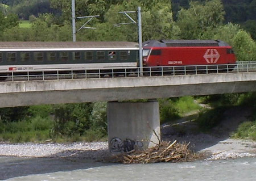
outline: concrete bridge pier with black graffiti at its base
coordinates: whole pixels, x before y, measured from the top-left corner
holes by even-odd
[[[108,102],[108,141],[112,153],[147,149],[158,144],[158,101]]]

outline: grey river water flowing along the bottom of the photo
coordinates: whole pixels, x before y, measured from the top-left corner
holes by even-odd
[[[122,165],[50,158],[0,157],[4,180],[255,180],[256,157]]]

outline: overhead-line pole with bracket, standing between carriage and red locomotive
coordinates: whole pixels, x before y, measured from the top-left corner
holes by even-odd
[[[131,18],[131,16],[129,16],[129,13],[134,13],[134,12],[137,12],[138,13],[138,23],[133,19]],[[121,11],[119,13],[123,13],[125,14],[132,22],[129,22],[129,23],[117,23],[117,24],[114,24],[114,26],[120,26],[120,25],[123,25],[123,24],[137,24],[138,26],[138,37],[139,37],[139,72],[140,72],[140,75],[142,76],[143,73],[143,61],[142,61],[142,17],[141,17],[141,7],[138,7],[138,11]]]

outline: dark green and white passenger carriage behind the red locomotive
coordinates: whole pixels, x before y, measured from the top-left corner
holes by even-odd
[[[137,43],[0,42],[0,75],[12,71],[137,68]]]

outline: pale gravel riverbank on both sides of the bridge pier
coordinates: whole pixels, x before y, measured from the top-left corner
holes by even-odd
[[[201,139],[200,139],[201,138]],[[202,135],[190,137],[196,153],[203,153],[206,159],[229,159],[256,156],[256,141],[226,139],[210,144],[202,142]],[[208,137],[209,138],[209,137]],[[181,140],[180,140],[181,142]],[[102,160],[110,155],[108,142],[78,142],[73,144],[6,144],[0,143],[0,157],[68,158]]]

